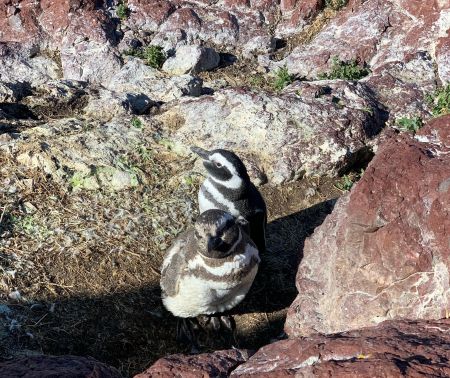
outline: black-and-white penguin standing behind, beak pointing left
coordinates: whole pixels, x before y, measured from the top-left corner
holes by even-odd
[[[266,251],[267,207],[261,193],[250,181],[239,157],[228,150],[212,151],[191,147],[203,159],[208,177],[198,193],[200,212],[220,209],[248,221],[250,238],[260,254]]]

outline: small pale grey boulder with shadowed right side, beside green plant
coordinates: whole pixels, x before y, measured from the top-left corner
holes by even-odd
[[[200,46],[180,46],[175,55],[162,66],[171,75],[196,74],[209,71],[219,65],[220,57],[214,49]]]

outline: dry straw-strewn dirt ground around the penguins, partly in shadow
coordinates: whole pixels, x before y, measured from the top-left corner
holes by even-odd
[[[159,267],[197,215],[202,177],[193,166],[155,145],[140,166],[150,184],[73,191],[0,152],[0,356],[89,355],[130,376],[161,356],[187,352],[161,303]],[[304,239],[342,194],[335,182],[261,188],[269,251],[234,311],[240,347],[283,337]],[[205,340],[203,351],[226,347]]]

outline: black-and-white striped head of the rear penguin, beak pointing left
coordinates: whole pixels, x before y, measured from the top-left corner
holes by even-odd
[[[250,180],[244,163],[234,152],[222,149],[207,151],[200,147],[191,147],[191,150],[203,159],[203,165],[213,180],[230,188],[238,188],[243,181]]]

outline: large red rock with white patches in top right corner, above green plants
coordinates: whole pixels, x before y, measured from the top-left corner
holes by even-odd
[[[366,62],[378,73],[385,65],[418,65],[422,53],[437,62],[440,79],[448,81],[449,12],[447,1],[354,0],[311,43],[295,48],[286,63],[292,73],[316,77],[338,56]],[[419,71],[407,81],[428,82],[432,64]]]

